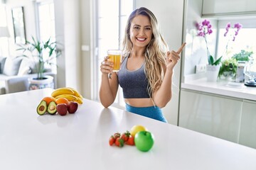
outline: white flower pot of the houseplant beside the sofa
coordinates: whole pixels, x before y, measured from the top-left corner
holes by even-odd
[[[44,76],[43,79],[30,78],[28,79],[29,90],[52,88],[54,89],[53,77]]]

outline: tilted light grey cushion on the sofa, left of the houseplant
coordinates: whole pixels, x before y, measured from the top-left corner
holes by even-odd
[[[22,58],[11,58],[7,57],[4,63],[3,74],[6,76],[14,76],[18,74],[18,69],[21,65]]]

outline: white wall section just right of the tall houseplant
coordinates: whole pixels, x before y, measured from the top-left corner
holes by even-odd
[[[58,58],[57,86],[81,89],[80,55],[80,1],[55,0],[56,40],[63,45],[63,55]]]

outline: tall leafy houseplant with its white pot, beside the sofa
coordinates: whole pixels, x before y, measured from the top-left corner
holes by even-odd
[[[57,42],[52,42],[50,38],[43,42],[32,36],[32,40],[31,42],[26,40],[26,44],[18,45],[19,48],[17,49],[23,51],[22,57],[30,58],[35,65],[37,77],[30,80],[29,89],[53,88],[53,77],[44,75],[45,67],[46,64],[52,65],[55,63],[54,59],[60,56],[61,50],[57,49]]]

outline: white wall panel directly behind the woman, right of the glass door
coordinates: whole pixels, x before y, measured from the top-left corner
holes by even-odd
[[[183,33],[183,1],[161,0],[135,0],[135,8],[144,6],[149,8],[156,16],[161,26],[161,32],[169,45],[169,50],[178,50],[182,44]],[[183,60],[183,59],[181,59]],[[163,109],[169,123],[178,123],[178,98],[181,75],[181,62],[174,69],[173,96],[171,101]]]

